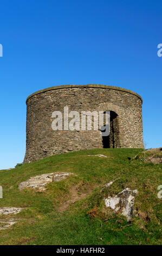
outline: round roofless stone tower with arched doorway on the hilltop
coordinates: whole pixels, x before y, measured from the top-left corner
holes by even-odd
[[[40,90],[27,98],[27,148],[24,163],[47,156],[95,148],[144,148],[142,99],[137,93],[100,84],[64,85]],[[109,135],[98,130],[69,130],[64,107],[70,111],[109,111]],[[62,113],[62,130],[52,127],[54,114]],[[66,116],[67,118],[67,116]],[[69,121],[72,117],[68,116]]]

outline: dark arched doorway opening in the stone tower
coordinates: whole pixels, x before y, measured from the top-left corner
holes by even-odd
[[[105,114],[105,112],[103,113]],[[114,111],[110,111],[109,135],[102,136],[103,148],[119,148],[119,119]],[[106,125],[101,127],[102,134],[106,130]]]

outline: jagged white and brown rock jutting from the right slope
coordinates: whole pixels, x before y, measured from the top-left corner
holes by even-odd
[[[105,205],[107,208],[110,207],[115,210],[115,212],[121,211],[121,214],[126,216],[127,221],[130,221],[133,215],[133,205],[137,193],[137,190],[131,190],[127,187],[116,196],[104,199]]]

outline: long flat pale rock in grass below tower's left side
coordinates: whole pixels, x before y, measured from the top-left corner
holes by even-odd
[[[46,184],[50,182],[56,182],[60,180],[66,179],[69,175],[74,173],[63,173],[63,172],[56,172],[56,173],[46,173],[42,175],[36,175],[31,177],[27,181],[23,181],[18,185],[19,190],[24,190],[24,188],[30,187],[34,189],[38,189],[39,191],[46,190]]]

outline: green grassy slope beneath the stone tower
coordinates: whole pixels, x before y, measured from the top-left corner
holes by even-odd
[[[141,149],[83,150],[47,157],[12,170],[0,170],[3,199],[0,207],[25,207],[12,228],[0,230],[1,245],[158,245],[160,244],[161,205],[157,187],[161,185],[161,165],[128,157]],[[108,158],[88,157],[103,154]],[[31,176],[50,172],[73,172],[76,176],[47,185],[45,192],[18,191],[18,184]],[[106,182],[119,178],[107,191]],[[70,197],[70,188],[78,193],[98,184],[85,199],[64,212],[59,206]],[[127,223],[121,215],[105,209],[103,197],[114,196],[124,188],[138,189],[136,216]],[[91,210],[90,210],[91,209]],[[88,212],[89,211],[89,212]],[[88,212],[88,213],[87,213]],[[9,218],[8,215],[0,216]]]

